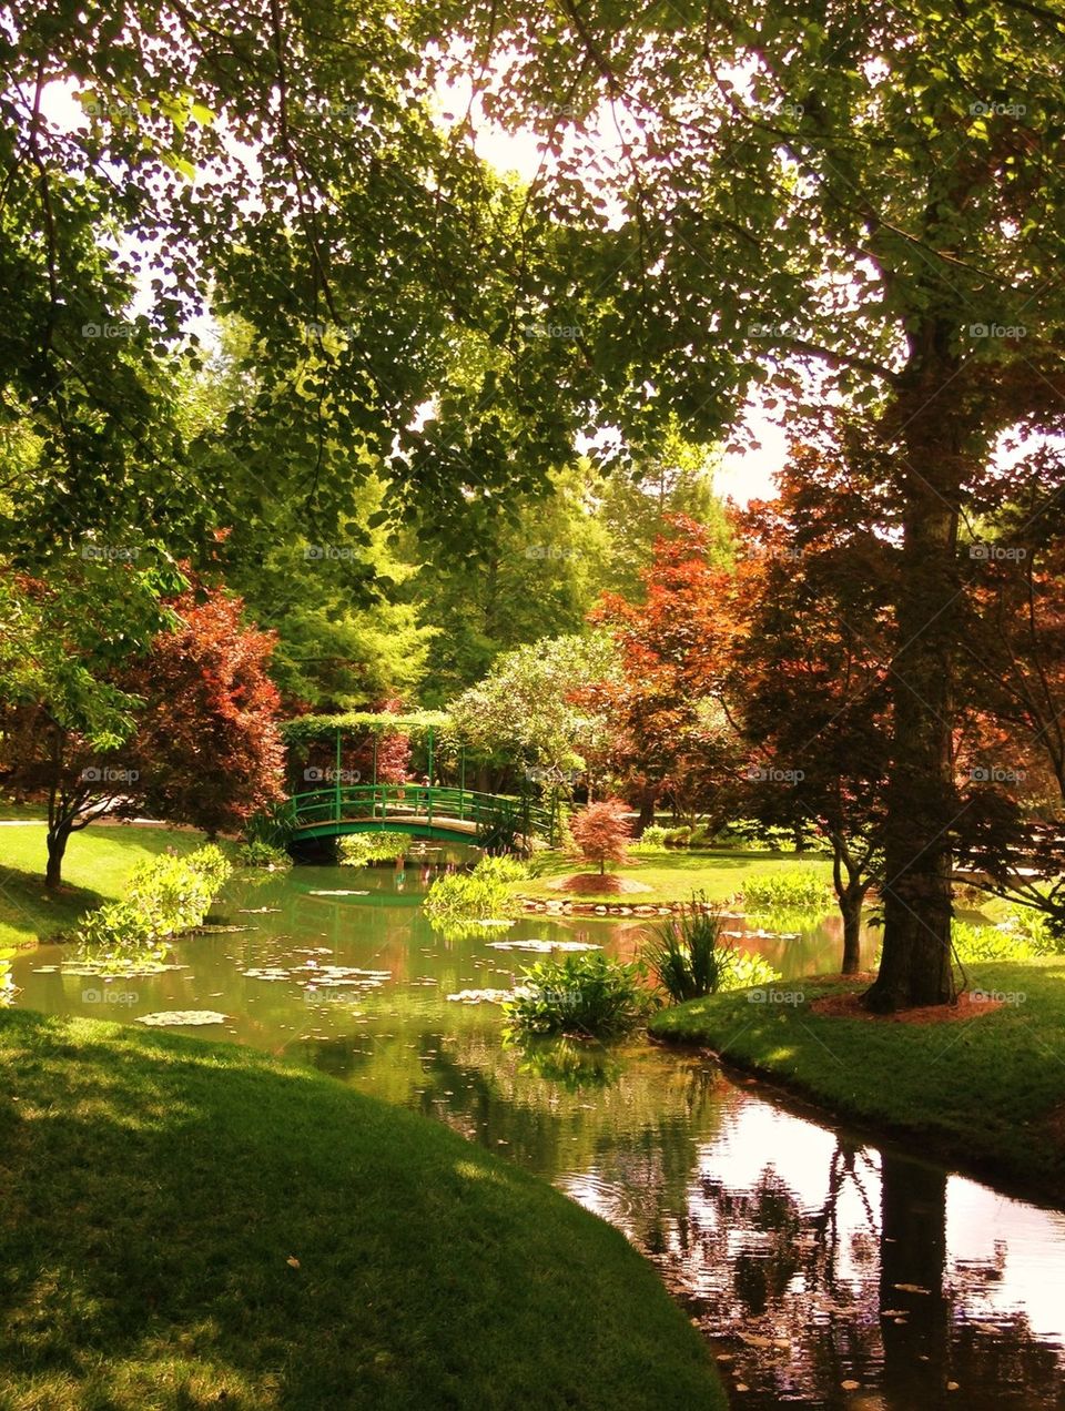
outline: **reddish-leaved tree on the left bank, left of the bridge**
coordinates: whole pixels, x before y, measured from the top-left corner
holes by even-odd
[[[140,773],[127,811],[236,831],[282,797],[279,696],[267,674],[275,638],[248,626],[243,600],[223,588],[189,590],[174,610],[179,625],[123,679],[145,703],[126,751]]]

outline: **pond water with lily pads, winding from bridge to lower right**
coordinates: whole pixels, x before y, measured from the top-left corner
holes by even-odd
[[[498,1006],[447,999],[509,988],[536,958],[491,943],[628,957],[642,926],[532,916],[444,940],[419,909],[427,880],[410,862],[243,876],[216,919],[247,928],[185,940],[181,968],[103,982],[41,947],[16,961],[18,1003],[217,1010],[178,1031],[313,1064],[547,1177],[657,1264],[734,1405],[1065,1405],[1065,1215],[800,1116],[693,1053],[505,1047]],[[750,948],[784,978],[834,971],[839,923]]]

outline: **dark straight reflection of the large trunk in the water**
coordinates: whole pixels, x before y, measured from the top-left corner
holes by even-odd
[[[949,1367],[951,1321],[942,1287],[947,1173],[883,1153],[880,1178],[880,1309],[908,1309],[906,1322],[880,1321],[884,1393],[891,1411],[931,1407],[938,1404]],[[897,1284],[928,1291],[913,1294]]]

